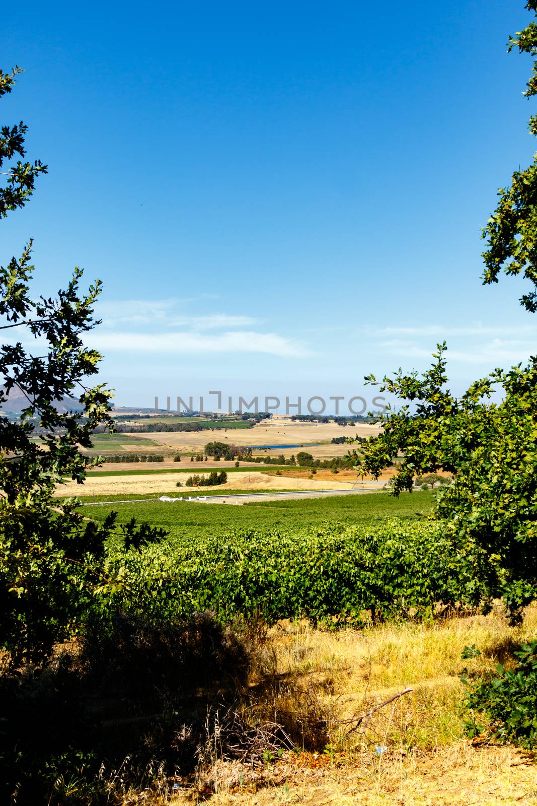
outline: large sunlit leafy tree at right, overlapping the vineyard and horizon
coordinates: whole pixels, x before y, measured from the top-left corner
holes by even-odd
[[[444,470],[436,514],[461,544],[489,558],[489,593],[503,592],[514,611],[537,590],[537,359],[476,381],[460,398],[447,388],[445,343],[419,375],[401,370],[379,384],[403,405],[381,415],[382,433],[353,453],[378,478],[403,453],[392,492],[415,476]],[[374,376],[368,383],[377,384]],[[493,393],[501,393],[495,402]]]

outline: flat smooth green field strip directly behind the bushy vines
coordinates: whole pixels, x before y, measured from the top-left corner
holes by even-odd
[[[170,495],[169,492],[160,494]],[[176,492],[178,496],[191,494],[188,488],[180,488]],[[200,491],[198,494],[206,493]],[[147,521],[152,526],[162,526],[166,529],[170,533],[171,540],[217,538],[238,529],[278,529],[294,532],[304,527],[321,527],[327,521],[337,521],[350,526],[357,522],[381,523],[387,518],[394,517],[404,520],[415,519],[427,514],[434,501],[434,493],[431,491],[405,492],[399,499],[385,492],[375,492],[357,496],[307,498],[299,501],[256,501],[242,506],[205,505],[185,501],[177,504],[147,501],[147,503],[114,506],[114,497],[116,500],[122,500],[128,496],[94,498],[94,501],[110,501],[110,505],[87,507],[88,516],[96,521],[102,521],[111,509],[115,509],[118,512],[118,523],[126,523],[133,517],[137,521]],[[151,497],[158,497],[158,494],[153,493]]]

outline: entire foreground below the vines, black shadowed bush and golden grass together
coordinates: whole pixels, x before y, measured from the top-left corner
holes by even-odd
[[[125,613],[92,620],[43,675],[0,679],[17,740],[2,802],[530,804],[531,757],[465,739],[461,675],[512,665],[536,619],[335,632],[223,629],[209,614],[164,629]],[[482,654],[461,659],[472,645]]]

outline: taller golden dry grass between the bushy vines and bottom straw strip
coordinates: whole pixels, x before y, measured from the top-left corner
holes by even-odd
[[[536,622],[537,609],[531,609],[520,628],[507,625],[501,613],[434,625],[403,622],[364,632],[324,633],[307,622],[279,625],[263,650],[259,674],[278,681],[272,696],[288,700],[304,689],[314,695],[328,715],[328,741],[341,749],[381,741],[436,747],[462,736],[463,669],[508,661],[514,645],[537,633]],[[463,661],[461,652],[471,644],[481,647],[483,655]],[[349,739],[345,721],[407,687],[413,689],[411,696],[379,711]]]

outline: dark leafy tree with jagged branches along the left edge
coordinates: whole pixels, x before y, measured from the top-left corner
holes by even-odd
[[[0,96],[14,76],[0,73]],[[24,123],[2,127],[0,160],[24,156]],[[22,207],[46,167],[14,164],[0,189],[0,215]],[[101,283],[81,293],[76,268],[66,289],[54,297],[32,297],[31,242],[20,258],[0,267],[0,405],[13,390],[26,398],[18,421],[0,418],[0,646],[13,663],[44,659],[53,643],[76,620],[81,584],[101,580],[96,563],[113,525],[88,524],[71,504],[56,506],[56,484],[82,481],[88,460],[79,446],[91,447],[98,423],[109,421],[111,393],[88,385],[101,355],[84,346],[97,322],[93,305]],[[79,397],[80,411],[62,411],[64,397]],[[35,440],[39,427],[40,442]]]

